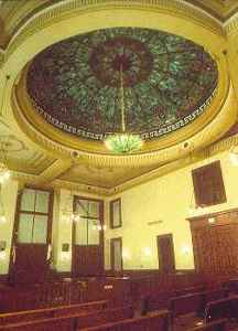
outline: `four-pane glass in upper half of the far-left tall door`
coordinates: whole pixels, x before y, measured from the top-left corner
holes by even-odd
[[[50,197],[48,191],[23,190],[19,209],[19,244],[46,244]]]

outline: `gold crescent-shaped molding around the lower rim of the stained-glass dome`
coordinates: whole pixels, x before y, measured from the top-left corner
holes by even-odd
[[[21,129],[42,148],[53,152],[57,158],[71,158],[74,152],[87,163],[101,167],[134,167],[164,163],[183,158],[191,150],[207,146],[217,135],[221,136],[235,121],[235,108],[232,99],[225,102],[228,95],[228,77],[226,73],[226,60],[223,55],[218,64],[219,84],[217,94],[210,106],[190,126],[171,132],[167,137],[144,143],[140,153],[130,156],[108,154],[102,142],[80,140],[77,137],[57,130],[47,124],[32,108],[32,103],[25,88],[26,70],[23,72],[18,86],[12,94],[12,108]],[[230,89],[230,93],[232,90]],[[223,118],[218,121],[217,118]],[[216,126],[213,125],[216,121]],[[204,132],[209,132],[209,135]]]

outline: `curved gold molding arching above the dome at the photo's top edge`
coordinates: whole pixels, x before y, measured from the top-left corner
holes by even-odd
[[[191,19],[197,24],[205,26],[215,34],[225,35],[223,25],[215,18],[210,17],[204,10],[198,9],[183,0],[72,0],[61,1],[56,4],[30,17],[26,22],[11,36],[7,47],[7,57],[9,57],[25,39],[37,31],[51,26],[52,23],[75,17],[82,12],[93,12],[109,9],[140,9],[169,13],[175,17]]]

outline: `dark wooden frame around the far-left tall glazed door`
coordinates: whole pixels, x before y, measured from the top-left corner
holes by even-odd
[[[35,191],[43,191],[43,192],[50,192],[50,200],[48,200],[48,222],[47,222],[47,236],[46,236],[46,245],[52,246],[52,225],[53,225],[53,210],[54,210],[54,190],[53,189],[42,189],[42,188],[35,188],[31,185],[25,185],[23,189],[18,191],[17,196],[17,205],[15,205],[15,212],[14,212],[14,224],[12,228],[12,239],[11,239],[11,248],[10,248],[10,261],[9,261],[9,280],[11,280],[12,275],[14,273],[14,247],[18,244],[18,227],[19,227],[19,220],[20,220],[20,205],[21,205],[21,199],[24,190],[35,190]],[[37,213],[36,213],[37,214]],[[37,245],[37,244],[36,244]],[[48,265],[50,268],[50,265]]]

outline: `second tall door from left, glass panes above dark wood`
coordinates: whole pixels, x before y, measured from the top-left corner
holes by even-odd
[[[75,196],[74,212],[79,216],[73,223],[74,276],[96,276],[104,273],[104,203],[99,200]]]

